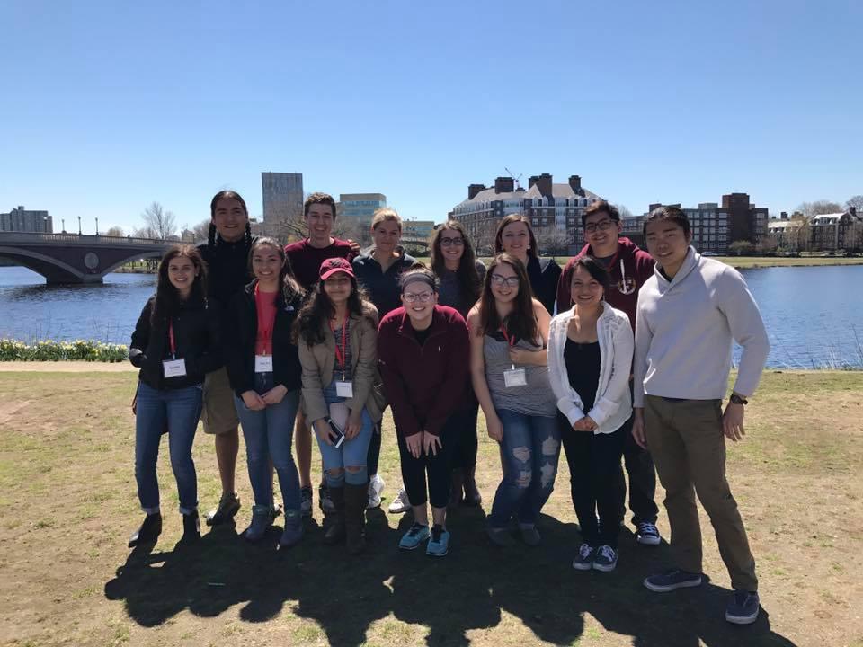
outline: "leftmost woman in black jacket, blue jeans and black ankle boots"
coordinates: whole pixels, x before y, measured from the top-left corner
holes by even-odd
[[[156,461],[167,431],[182,514],[182,541],[200,539],[198,480],[191,445],[198,429],[204,376],[222,365],[218,325],[207,312],[207,265],[191,245],[174,246],[159,263],[156,295],[144,306],[129,361],[140,368],[135,395],[135,479],[147,514],[129,548],[162,532]]]

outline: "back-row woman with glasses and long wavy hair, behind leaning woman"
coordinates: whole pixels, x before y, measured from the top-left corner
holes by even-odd
[[[476,259],[473,245],[464,226],[449,220],[440,226],[432,238],[432,270],[440,281],[438,303],[458,310],[467,317],[479,299],[485,279],[485,265]],[[468,384],[468,386],[470,386]],[[451,452],[452,483],[449,492],[449,507],[459,504],[476,507],[482,502],[476,488],[476,417],[479,403],[473,388],[469,389],[468,405],[462,419],[458,421],[458,434],[453,439]]]

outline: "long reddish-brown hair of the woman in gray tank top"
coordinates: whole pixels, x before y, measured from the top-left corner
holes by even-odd
[[[512,304],[512,312],[503,322],[497,315],[492,293],[494,270],[502,263],[509,265],[519,278],[519,294]],[[525,270],[521,261],[508,253],[495,256],[488,266],[488,271],[485,272],[483,296],[479,299],[479,330],[476,331],[476,335],[492,335],[500,330],[503,323],[506,324],[507,334],[516,340],[527,340],[533,343],[539,336],[537,317],[533,314],[533,290],[530,289],[528,270]]]

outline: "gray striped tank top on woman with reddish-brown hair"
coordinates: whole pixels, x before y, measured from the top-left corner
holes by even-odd
[[[525,340],[518,341],[515,347],[525,350],[540,348]],[[509,343],[503,339],[500,332],[494,336],[486,334],[483,337],[485,382],[492,394],[494,408],[522,415],[554,417],[557,412],[557,399],[548,382],[548,367],[516,365],[516,368],[524,368],[527,385],[509,388],[505,386],[503,371],[512,368],[509,349]]]

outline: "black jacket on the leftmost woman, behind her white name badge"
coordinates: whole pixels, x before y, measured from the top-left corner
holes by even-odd
[[[150,315],[155,305],[156,296],[150,297],[138,317],[135,332],[132,332],[129,361],[132,366],[141,369],[138,378],[147,386],[160,390],[200,384],[204,381],[205,373],[222,366],[218,318],[209,315],[207,303],[203,300],[180,305],[171,321],[176,359],[185,360],[186,375],[165,378],[162,362],[173,359],[171,343],[168,340],[169,326],[166,318],[150,323]]]

